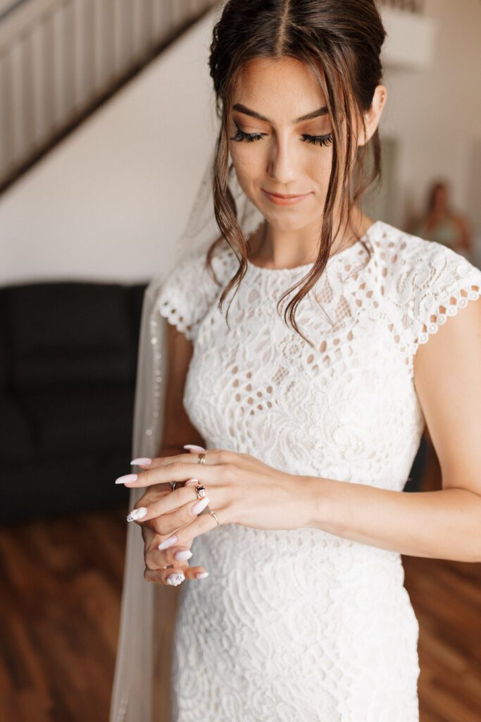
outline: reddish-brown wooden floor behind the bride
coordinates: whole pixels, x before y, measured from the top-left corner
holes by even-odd
[[[431,450],[423,489],[438,479]],[[126,513],[0,530],[1,722],[107,722]],[[480,722],[481,565],[403,562],[420,622],[420,722]]]

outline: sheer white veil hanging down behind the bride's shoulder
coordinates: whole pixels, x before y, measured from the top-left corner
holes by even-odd
[[[166,421],[164,391],[168,373],[168,321],[160,315],[156,299],[177,262],[195,249],[205,248],[207,251],[220,235],[213,213],[213,159],[214,151],[208,159],[185,231],[177,240],[172,264],[152,277],[144,294],[137,355],[132,458],[156,456]],[[233,168],[231,171],[229,188],[236,201],[237,220],[247,237],[262,222],[263,216],[242,191]],[[190,439],[185,439],[185,443],[190,443]],[[133,508],[143,494],[144,489],[131,489],[129,508]],[[144,580],[141,529],[136,523],[126,524],[120,627],[109,721],[167,722],[169,705],[159,699],[159,692],[169,687],[175,625],[172,610],[176,607],[172,599],[177,601],[180,588]],[[195,584],[195,581],[185,583]]]

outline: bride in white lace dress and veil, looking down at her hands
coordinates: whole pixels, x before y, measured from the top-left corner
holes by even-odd
[[[230,0],[213,28],[219,136],[146,291],[117,479],[110,722],[419,719],[401,554],[481,560],[481,271],[362,212],[384,36],[374,0]],[[409,494],[426,422],[443,490]]]

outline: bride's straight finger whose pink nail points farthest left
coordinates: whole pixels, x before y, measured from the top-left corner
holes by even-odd
[[[231,474],[231,467],[224,461],[225,456],[221,456],[224,452],[214,452],[210,456],[208,464],[196,464],[193,469],[192,463],[187,461],[175,461],[175,456],[168,457],[172,459],[166,464],[158,466],[156,469],[149,469],[148,471],[142,471],[139,474],[125,474],[123,477],[115,479],[115,484],[125,484],[126,487],[149,487],[152,484],[160,484],[162,482],[169,482],[175,480],[177,482],[185,482],[187,479],[193,477],[197,478],[200,483],[210,482],[216,483],[226,477],[226,474]],[[192,457],[192,454],[182,454],[177,458],[183,458],[184,460],[188,457]],[[164,460],[165,461],[165,460]],[[223,463],[224,462],[224,463]]]

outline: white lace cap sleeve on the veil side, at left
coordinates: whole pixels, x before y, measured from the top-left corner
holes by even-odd
[[[198,324],[206,316],[219,288],[205,264],[205,249],[180,258],[162,282],[156,300],[160,315],[189,341],[195,338]]]

